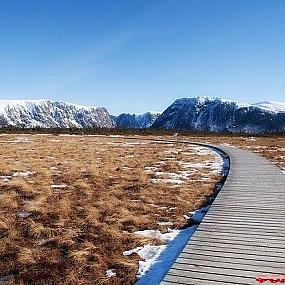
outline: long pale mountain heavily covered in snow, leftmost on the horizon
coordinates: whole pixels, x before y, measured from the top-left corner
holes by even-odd
[[[51,100],[0,100],[0,127],[115,127],[103,107],[85,107]]]

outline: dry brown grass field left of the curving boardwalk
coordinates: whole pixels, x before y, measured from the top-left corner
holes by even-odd
[[[0,144],[0,278],[8,276],[7,284],[133,284],[139,256],[122,253],[160,243],[133,232],[166,231],[159,220],[184,226],[183,215],[203,205],[220,178],[178,163],[214,159],[187,145],[52,135],[3,135]],[[19,174],[26,171],[32,174]],[[178,185],[163,180],[180,171],[192,176]],[[107,278],[110,268],[116,276]]]

